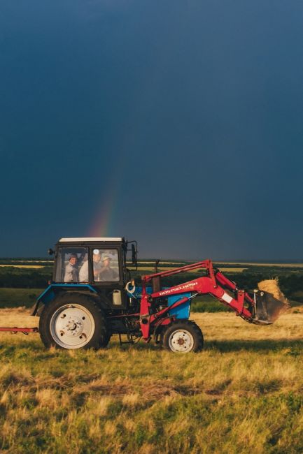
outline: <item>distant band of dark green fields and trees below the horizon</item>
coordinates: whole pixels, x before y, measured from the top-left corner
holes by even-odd
[[[167,271],[185,264],[186,262],[163,260],[160,262],[158,270],[160,272]],[[248,291],[253,291],[254,288],[257,288],[258,282],[263,279],[278,277],[283,293],[292,301],[292,304],[300,305],[303,303],[303,263],[217,262],[214,265],[225,273],[227,277],[232,279],[232,281],[237,282],[238,288],[244,288]],[[130,266],[129,268],[132,270],[132,277],[134,277],[136,285],[141,284],[141,276],[143,274],[152,274],[155,272],[153,261],[144,259],[139,262],[138,270]],[[200,272],[204,273],[199,268],[191,272],[174,274],[171,277],[162,279],[162,285],[174,286],[196,279]],[[12,258],[0,258],[0,288],[12,289],[6,293],[5,301],[1,298],[0,291],[0,307],[3,307],[4,303],[7,307],[20,304],[25,306],[30,305],[31,302],[29,300],[32,298],[26,297],[16,300],[14,288],[17,288],[19,291],[23,289],[29,295],[33,293],[38,294],[48,285],[50,279],[52,279],[52,261],[43,261],[41,258],[17,258],[15,260]],[[39,288],[40,291],[31,291],[31,288]],[[201,298],[197,298],[192,305],[192,310],[216,312],[218,310],[226,310],[216,300],[206,300],[206,303],[205,298],[203,303]]]

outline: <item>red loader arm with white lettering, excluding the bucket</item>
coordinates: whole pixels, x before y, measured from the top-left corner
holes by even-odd
[[[206,275],[202,277],[197,277],[192,281],[185,282],[184,284],[179,284],[161,291],[154,293],[146,292],[146,284],[150,282],[155,277],[167,277],[172,274],[178,274],[181,272],[188,272],[196,269],[205,269]],[[140,324],[143,339],[148,340],[150,338],[150,328],[153,328],[155,321],[159,320],[161,323],[161,318],[167,317],[167,314],[171,309],[174,309],[180,305],[183,305],[188,300],[191,300],[198,295],[212,295],[214,298],[222,302],[224,305],[227,305],[237,315],[244,318],[246,321],[253,321],[253,307],[254,300],[250,295],[244,290],[239,290],[237,285],[228,279],[223,273],[213,268],[213,263],[210,260],[192,263],[191,265],[185,265],[181,268],[174,268],[173,270],[167,270],[163,272],[158,272],[155,274],[148,274],[142,276],[142,296],[141,296],[141,307],[140,307]],[[230,291],[234,296],[227,293]],[[176,301],[173,305],[165,307],[164,309],[156,312],[155,314],[150,313],[150,307],[155,298],[163,298],[171,295],[178,295],[182,293],[192,293],[190,297],[184,297]],[[246,306],[245,305],[246,303]]]

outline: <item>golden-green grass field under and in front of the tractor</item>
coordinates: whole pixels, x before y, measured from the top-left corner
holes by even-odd
[[[293,309],[294,310],[294,309]],[[47,351],[0,334],[0,450],[8,453],[302,453],[303,314],[250,325],[193,314],[202,353],[157,346]],[[24,309],[0,325],[34,326]]]

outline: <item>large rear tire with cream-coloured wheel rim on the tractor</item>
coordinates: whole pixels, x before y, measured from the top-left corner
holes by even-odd
[[[39,332],[46,347],[59,349],[101,349],[111,339],[102,309],[88,295],[72,292],[43,307]]]

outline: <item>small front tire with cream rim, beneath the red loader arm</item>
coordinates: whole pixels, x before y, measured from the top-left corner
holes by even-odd
[[[164,349],[178,353],[197,353],[203,349],[203,343],[202,331],[190,320],[174,321],[162,334]]]

